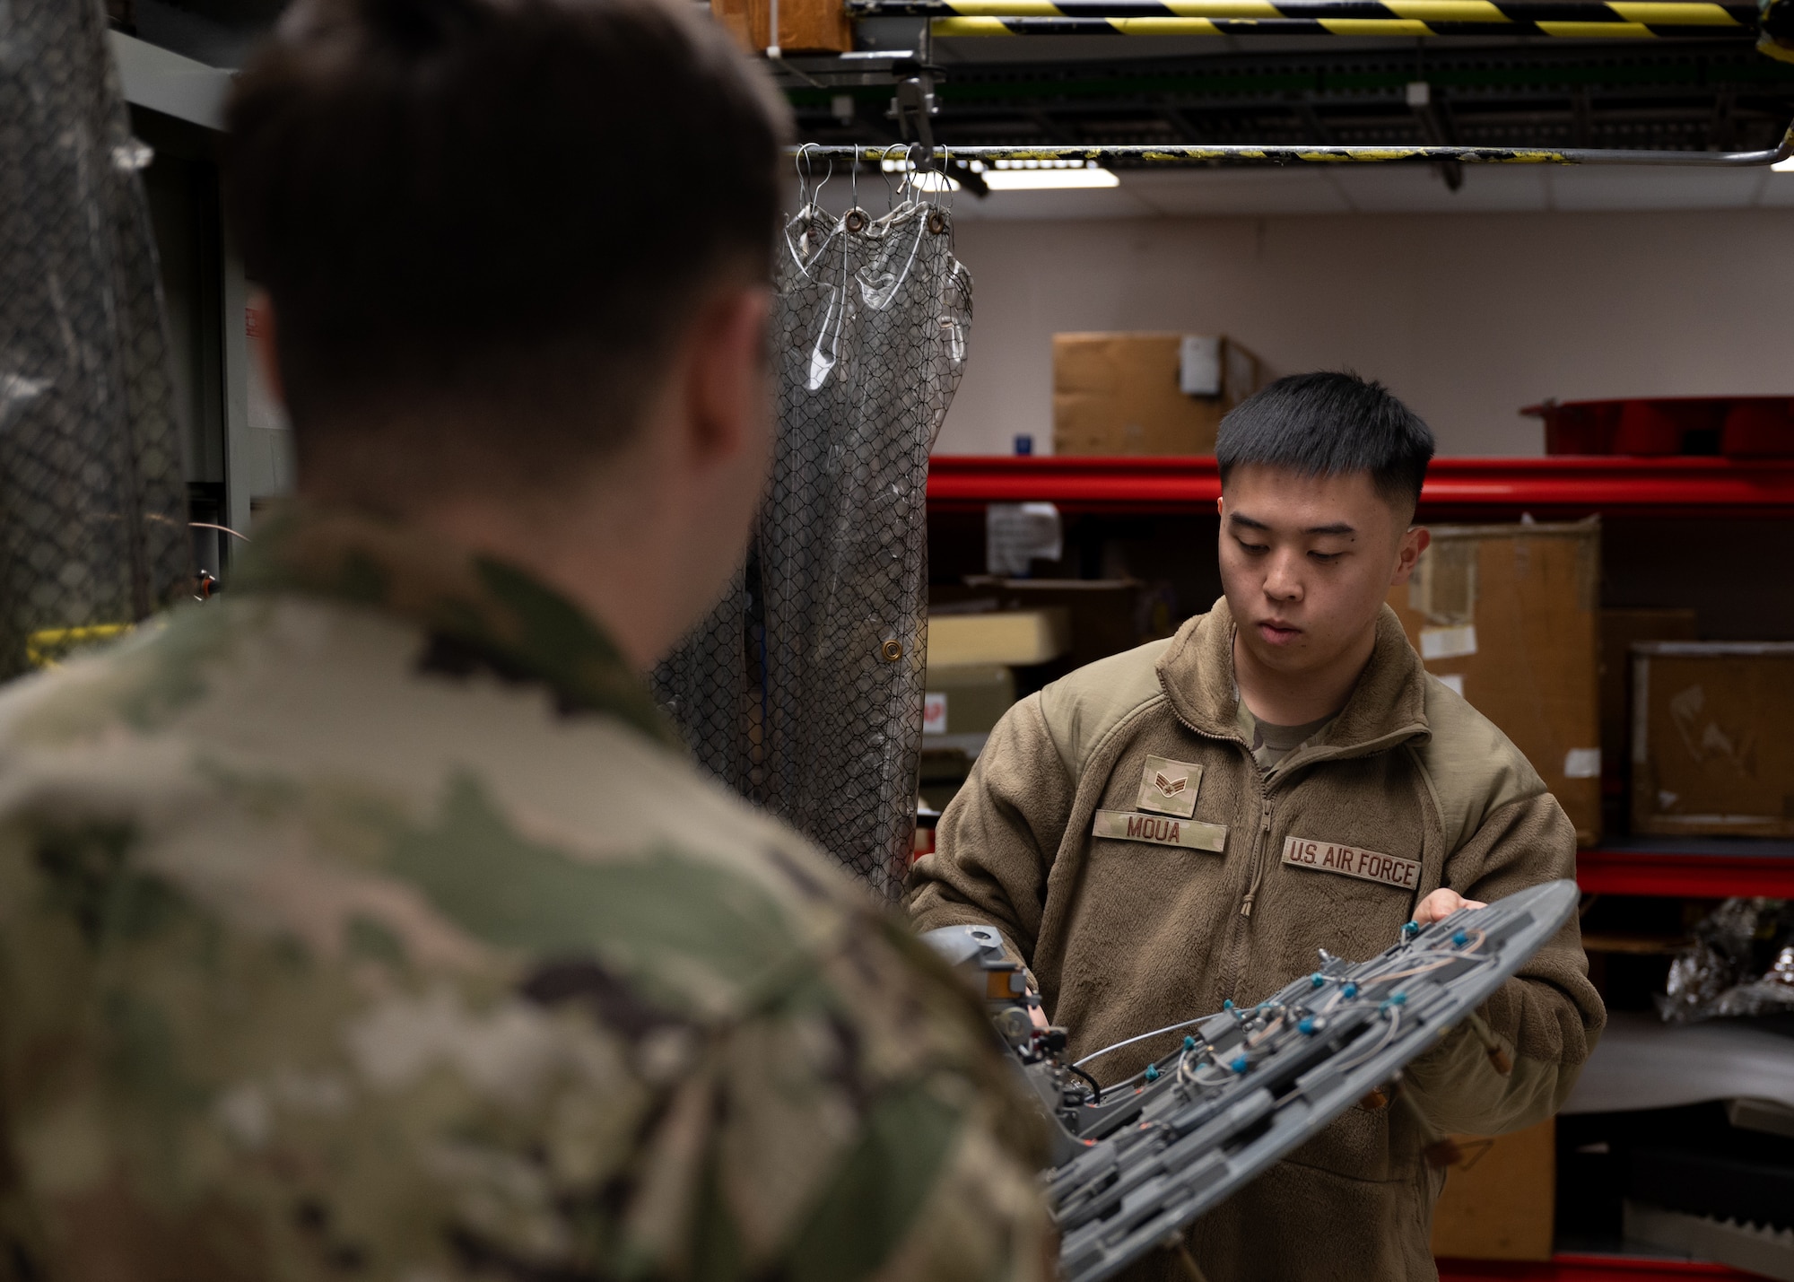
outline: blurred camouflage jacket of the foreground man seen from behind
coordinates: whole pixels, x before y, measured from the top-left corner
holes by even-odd
[[[0,695],[0,1277],[1044,1277],[971,995],[583,614],[253,551]]]

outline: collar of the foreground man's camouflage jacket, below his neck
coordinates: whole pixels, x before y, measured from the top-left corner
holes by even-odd
[[[619,716],[649,738],[678,734],[605,630],[508,562],[377,517],[289,501],[257,530],[233,593],[305,593],[396,614],[432,643],[540,681],[563,707]]]

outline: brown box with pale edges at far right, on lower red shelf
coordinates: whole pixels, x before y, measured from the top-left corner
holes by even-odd
[[[1794,643],[1633,646],[1633,831],[1794,837]]]

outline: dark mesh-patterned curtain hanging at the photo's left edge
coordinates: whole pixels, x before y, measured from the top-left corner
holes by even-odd
[[[106,18],[0,4],[0,677],[188,573],[161,285]]]

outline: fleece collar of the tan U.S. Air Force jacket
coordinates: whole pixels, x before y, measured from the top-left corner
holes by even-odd
[[[1184,623],[1159,659],[1159,686],[1171,711],[1198,734],[1240,738],[1232,639],[1232,612],[1222,598],[1207,614]],[[1376,619],[1371,663],[1328,729],[1326,743],[1304,751],[1301,760],[1363,756],[1430,733],[1426,670],[1408,645],[1401,619],[1385,605]]]

